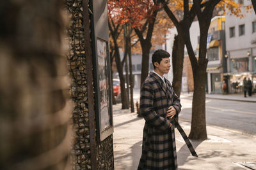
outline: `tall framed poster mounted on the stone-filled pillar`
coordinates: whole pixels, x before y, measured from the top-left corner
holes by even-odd
[[[97,131],[100,141],[113,133],[113,114],[111,101],[111,68],[108,41],[97,38]]]

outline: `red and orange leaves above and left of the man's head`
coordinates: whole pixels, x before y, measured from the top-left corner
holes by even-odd
[[[108,1],[108,15],[112,18],[116,24],[131,24],[131,27],[143,28],[147,19],[152,19],[152,13],[155,10],[159,10],[159,5],[154,4],[153,1],[141,1],[141,0],[109,0]],[[173,27],[172,22],[168,19],[168,16],[164,11],[159,11],[157,14],[154,32],[152,36],[152,48],[156,48],[157,45],[163,45],[166,38],[165,34],[168,28]],[[122,33],[121,33],[122,34]],[[143,32],[146,36],[147,31]],[[132,31],[131,43],[136,45],[132,46],[132,53],[141,53],[140,41],[135,32]],[[123,36],[119,36],[118,45],[124,45]]]

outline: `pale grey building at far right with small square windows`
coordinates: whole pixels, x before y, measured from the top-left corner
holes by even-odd
[[[244,6],[251,1],[243,1]],[[227,46],[227,77],[230,93],[243,91],[243,79],[250,78],[253,90],[256,84],[256,16],[252,10],[248,13],[244,8],[241,11],[246,15],[237,18],[226,14],[225,32]]]

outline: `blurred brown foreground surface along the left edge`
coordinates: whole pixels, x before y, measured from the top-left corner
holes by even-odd
[[[63,1],[0,1],[0,169],[70,169]]]

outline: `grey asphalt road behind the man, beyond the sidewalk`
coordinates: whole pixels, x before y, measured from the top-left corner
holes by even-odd
[[[206,99],[206,123],[227,129],[256,134],[256,103]],[[191,121],[192,97],[181,98],[179,117]]]

